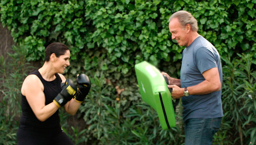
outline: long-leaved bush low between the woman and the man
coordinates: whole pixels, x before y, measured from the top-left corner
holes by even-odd
[[[95,76],[91,82],[90,93],[80,111],[86,122],[86,131],[92,135],[91,140],[98,140],[95,144],[182,144],[184,136],[181,135],[182,130],[177,128],[182,128],[182,124],[163,131],[152,107],[141,101],[132,106],[117,101],[111,90],[113,84],[106,84],[103,76]],[[120,99],[125,100],[122,96]],[[177,120],[180,119],[177,117]]]

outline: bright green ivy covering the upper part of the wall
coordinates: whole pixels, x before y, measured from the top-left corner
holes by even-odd
[[[219,53],[255,52],[255,0],[247,1],[1,1],[1,21],[16,43],[24,45],[28,60],[41,60],[44,48],[63,42],[71,59],[84,70],[117,67],[126,74],[135,63],[148,60],[176,62],[183,47],[171,40],[169,16],[179,10],[192,13],[199,33]],[[104,57],[99,57],[104,54]],[[254,63],[256,63],[254,57]]]

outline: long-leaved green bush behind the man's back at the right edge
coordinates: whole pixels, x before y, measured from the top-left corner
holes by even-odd
[[[238,54],[240,59],[224,59],[223,124],[229,144],[255,144],[256,137],[256,71],[252,70],[252,54]]]

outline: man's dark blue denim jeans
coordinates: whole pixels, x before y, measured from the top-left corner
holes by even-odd
[[[219,118],[190,118],[185,124],[185,145],[211,145],[213,135],[221,126]]]

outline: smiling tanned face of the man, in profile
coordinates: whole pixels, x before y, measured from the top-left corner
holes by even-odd
[[[183,28],[177,18],[169,22],[169,31],[172,33],[172,39],[175,39],[180,46],[187,46],[187,29]]]

